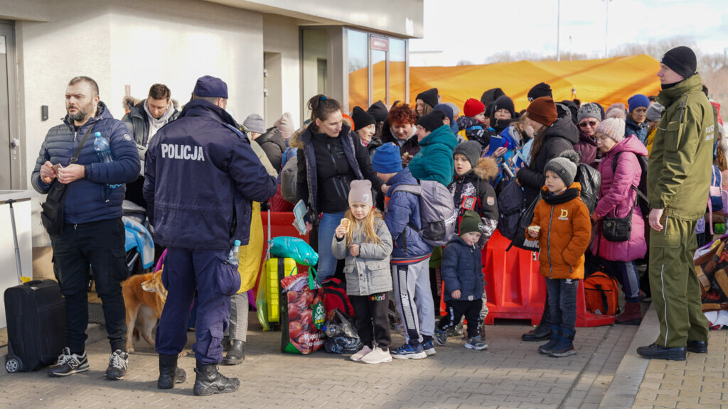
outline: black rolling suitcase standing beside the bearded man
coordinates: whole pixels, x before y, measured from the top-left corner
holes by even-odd
[[[8,372],[55,363],[66,346],[66,303],[58,282],[34,280],[5,290]]]

